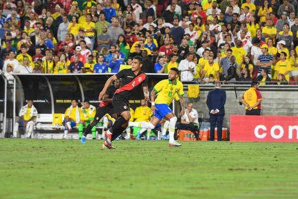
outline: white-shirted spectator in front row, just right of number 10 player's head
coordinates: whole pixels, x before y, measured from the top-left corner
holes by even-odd
[[[178,70],[180,73],[180,81],[193,81],[194,75],[197,74],[196,65],[193,62],[194,55],[187,54],[186,59],[179,63]]]

